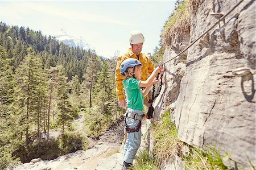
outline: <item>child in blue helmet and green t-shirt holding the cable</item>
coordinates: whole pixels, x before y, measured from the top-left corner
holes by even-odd
[[[143,100],[151,86],[158,82],[154,80],[160,72],[157,67],[146,81],[141,81],[142,64],[137,59],[126,59],[121,63],[120,72],[126,77],[123,86],[126,91],[127,111],[125,114],[125,130],[128,132],[123,150],[123,167],[129,169],[141,144],[141,121],[143,118]],[[141,87],[145,87],[142,91]]]

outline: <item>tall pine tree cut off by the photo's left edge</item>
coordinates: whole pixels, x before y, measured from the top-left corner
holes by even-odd
[[[12,119],[14,77],[6,49],[0,46],[0,169],[6,168],[6,162],[13,161],[11,152],[16,149],[16,120]]]

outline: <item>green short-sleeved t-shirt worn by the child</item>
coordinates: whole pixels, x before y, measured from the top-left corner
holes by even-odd
[[[143,110],[143,94],[139,84],[141,80],[136,78],[127,78],[123,80],[123,86],[125,87],[126,92],[126,102],[127,106],[130,109]]]

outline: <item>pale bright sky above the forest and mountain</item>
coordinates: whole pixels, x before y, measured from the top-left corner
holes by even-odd
[[[130,47],[129,35],[142,31],[143,53],[159,47],[164,23],[175,7],[173,1],[2,1],[0,20],[9,26],[29,27],[54,36],[61,28],[80,36],[97,55],[111,58]]]

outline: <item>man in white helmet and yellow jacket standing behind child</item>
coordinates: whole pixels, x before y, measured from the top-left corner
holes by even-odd
[[[150,61],[149,57],[145,55],[144,53],[141,53],[142,47],[144,43],[144,36],[141,31],[134,30],[130,33],[130,45],[131,48],[128,49],[126,53],[118,57],[117,60],[117,68],[115,69],[115,85],[116,85],[116,91],[117,96],[119,100],[119,105],[121,107],[127,107],[125,96],[123,94],[123,80],[125,80],[125,76],[122,76],[120,73],[120,65],[123,60],[133,58],[138,59],[143,64],[142,67],[142,81],[146,81],[148,74],[151,74],[152,71],[154,71],[154,65]],[[152,94],[151,94],[152,95]],[[151,95],[149,94],[148,97],[151,98]],[[148,103],[147,98],[144,99],[144,105],[147,107],[150,106]]]

